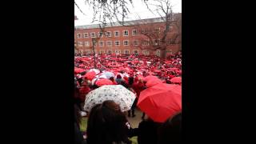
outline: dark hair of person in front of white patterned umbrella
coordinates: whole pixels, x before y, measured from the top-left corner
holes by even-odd
[[[127,136],[126,116],[113,101],[94,106],[87,123],[88,144],[131,143]]]

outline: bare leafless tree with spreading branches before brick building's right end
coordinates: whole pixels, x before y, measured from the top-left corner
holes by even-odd
[[[134,29],[142,35],[138,47],[142,50],[161,50],[161,57],[166,57],[168,46],[179,45],[182,42],[182,16],[174,14],[169,0],[152,0],[154,4],[147,3],[151,12],[157,12],[159,18],[141,20]],[[152,7],[150,7],[152,6]],[[164,25],[162,26],[162,22]],[[158,28],[160,28],[158,30]]]

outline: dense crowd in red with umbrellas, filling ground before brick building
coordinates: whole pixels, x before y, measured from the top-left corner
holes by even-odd
[[[154,122],[147,114],[142,114],[138,128],[132,128],[128,117],[135,117],[134,110],[138,98],[147,89],[146,76],[154,75],[163,83],[182,85],[172,82],[182,77],[182,53],[167,58],[144,55],[89,55],[74,59],[74,126],[75,142],[88,144],[130,144],[129,138],[138,136],[138,144],[167,144],[181,141],[182,113],[172,115],[166,122]],[[91,72],[94,73],[91,73]],[[101,77],[109,71],[110,77]],[[93,74],[92,77],[89,74]],[[130,110],[122,112],[114,101],[95,105],[90,112],[83,110],[86,94],[97,89],[100,79],[110,80],[111,85],[122,85],[132,91],[136,98]],[[81,114],[88,117],[87,130],[80,130]]]

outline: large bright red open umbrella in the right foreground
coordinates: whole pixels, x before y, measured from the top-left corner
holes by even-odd
[[[154,122],[165,122],[182,110],[182,86],[159,83],[142,90],[137,106]]]

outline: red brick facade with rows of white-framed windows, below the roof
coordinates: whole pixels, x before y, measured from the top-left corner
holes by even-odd
[[[92,28],[90,28],[92,27]],[[92,53],[92,38],[98,38],[98,42],[95,48],[95,52],[98,54],[105,53],[116,53],[116,54],[130,54],[138,53],[138,54],[160,54],[160,51],[154,50],[154,52],[150,52],[147,49],[149,46],[142,46],[142,38],[144,35],[140,34],[140,32],[144,29],[159,29],[160,31],[165,30],[164,22],[154,22],[150,24],[142,24],[138,26],[109,26],[104,29],[105,34],[102,38],[98,38],[98,34],[100,32],[99,28],[93,28],[93,26],[87,26],[86,28],[76,28],[74,30],[74,42],[75,42],[75,53]],[[128,35],[126,34],[126,30],[128,31]],[[138,34],[136,34],[136,30]],[[106,36],[106,33],[110,32],[110,37]],[[116,35],[118,33],[118,35]],[[160,33],[160,32],[159,32]],[[177,33],[173,27],[170,32],[167,34],[168,36]],[[95,35],[95,37],[93,37]],[[137,41],[137,42],[134,42]],[[119,45],[118,45],[119,43]],[[146,44],[146,43],[145,43]],[[146,48],[146,49],[145,49]],[[181,50],[181,44],[173,44],[167,46],[167,53],[176,53],[178,50]],[[146,52],[148,51],[148,52]]]

